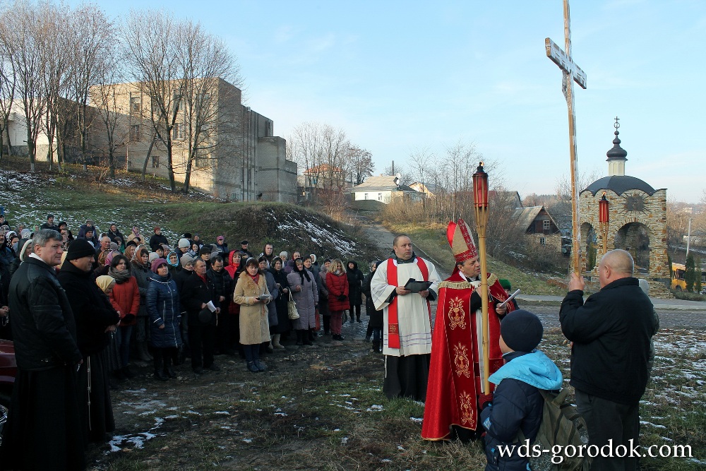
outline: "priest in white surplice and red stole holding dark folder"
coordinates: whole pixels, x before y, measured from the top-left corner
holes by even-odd
[[[407,281],[430,281],[427,290],[411,292]],[[439,276],[433,263],[412,249],[405,234],[395,237],[390,258],[378,265],[370,283],[375,309],[383,311],[383,354],[388,398],[426,399],[431,358],[431,306]]]

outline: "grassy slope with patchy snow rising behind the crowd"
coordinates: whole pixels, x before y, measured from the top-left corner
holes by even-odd
[[[231,249],[248,239],[251,251],[259,254],[270,242],[275,251],[299,250],[302,254],[354,258],[359,261],[380,256],[364,235],[351,225],[301,206],[284,203],[225,203],[203,193],[189,195],[169,191],[164,179],[119,171],[111,181],[105,169],[67,165],[64,172],[49,172],[38,162],[30,173],[26,160],[5,159],[0,169],[1,205],[6,219],[15,227],[45,222],[47,213],[65,220],[76,234],[85,220],[92,219],[102,231],[115,222],[128,234],[133,225],[150,237],[155,225],[175,244],[184,232],[198,233],[214,242],[226,237]]]

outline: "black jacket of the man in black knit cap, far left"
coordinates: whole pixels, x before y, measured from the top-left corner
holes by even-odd
[[[76,268],[67,260],[56,278],[66,292],[76,319],[78,350],[83,357],[100,352],[108,345],[105,329],[118,323],[120,316],[95,284],[92,273]]]

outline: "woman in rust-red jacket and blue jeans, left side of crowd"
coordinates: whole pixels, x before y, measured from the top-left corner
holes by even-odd
[[[114,256],[108,269],[108,275],[115,279],[110,302],[120,314],[120,323],[115,331],[120,349],[120,371],[128,378],[133,376],[128,369],[130,337],[140,310],[140,288],[131,270],[130,262],[124,255]]]

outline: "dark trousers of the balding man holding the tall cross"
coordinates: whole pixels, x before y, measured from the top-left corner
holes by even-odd
[[[586,421],[589,445],[599,448],[613,441],[616,446],[624,445],[628,450],[626,458],[604,458],[597,456],[591,463],[591,471],[633,471],[638,469],[638,459],[630,458],[630,448],[638,446],[640,436],[640,403],[620,404],[611,400],[576,390],[576,409]],[[633,442],[630,443],[630,440]],[[607,448],[606,448],[607,451]]]

